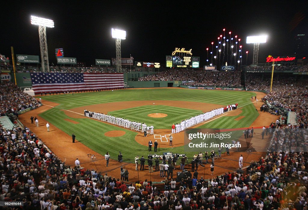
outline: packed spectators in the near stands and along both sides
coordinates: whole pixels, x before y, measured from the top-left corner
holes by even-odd
[[[2,209],[306,210],[308,153],[283,147],[285,142],[296,146],[293,133],[307,127],[307,89],[300,90],[303,84],[288,86],[286,91],[277,87],[263,99],[302,116],[298,126],[271,124],[271,131],[276,132],[271,145],[275,147],[270,147],[265,158],[251,162],[246,171],[238,169],[209,180],[197,173],[188,173],[177,183],[165,179],[164,188],[147,180],[126,184],[79,164],[68,166],[29,128],[6,130],[0,126],[0,200],[23,203],[23,207]],[[1,101],[5,101],[3,114],[12,107],[18,110],[39,103],[14,84],[2,84],[0,89],[4,93]],[[307,146],[307,138],[304,140],[301,144]]]

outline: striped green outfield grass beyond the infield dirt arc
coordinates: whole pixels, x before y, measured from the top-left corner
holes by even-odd
[[[219,90],[199,90],[199,89],[123,89],[102,92],[74,93],[74,95],[47,95],[42,99],[59,103],[59,108],[72,109],[86,105],[102,104],[116,101],[194,101],[210,104],[227,105],[238,103],[239,106],[250,103],[254,93],[245,91],[219,91]],[[137,106],[137,105],[136,105]],[[192,108],[193,109],[193,108]]]

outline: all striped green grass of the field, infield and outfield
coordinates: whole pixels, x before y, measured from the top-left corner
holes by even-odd
[[[238,103],[239,107],[243,106],[242,113],[238,116],[220,117],[217,120],[213,120],[209,123],[202,124],[199,128],[241,128],[249,126],[258,116],[250,98],[254,96],[254,93],[245,91],[216,91],[216,90],[191,90],[191,89],[124,89],[103,91],[103,92],[89,92],[89,93],[77,93],[74,95],[51,95],[42,96],[41,98],[47,101],[59,103],[57,108],[52,108],[40,116],[55,125],[59,129],[63,130],[68,135],[74,133],[76,139],[88,146],[92,150],[104,155],[106,151],[109,152],[112,159],[116,159],[119,151],[124,155],[124,158],[131,159],[129,162],[133,162],[136,154],[148,155],[148,147],[140,145],[134,138],[136,132],[122,129],[118,126],[105,124],[93,119],[84,118],[72,118],[68,117],[61,109],[72,109],[76,107],[82,107],[93,104],[103,104],[116,101],[140,101],[140,100],[168,100],[168,101],[195,101],[211,104],[227,105],[231,103]],[[142,98],[140,96],[143,96]],[[60,109],[59,109],[60,108]],[[95,110],[93,110],[95,111]],[[152,118],[148,117],[149,113],[166,113],[168,117],[164,118]],[[172,123],[179,122],[185,118],[192,117],[201,113],[200,110],[182,109],[177,107],[155,105],[155,106],[138,106],[132,109],[123,109],[112,111],[109,114],[128,118],[130,120],[136,120],[140,122],[146,122],[153,124],[155,129],[170,129]],[[235,121],[237,117],[245,116],[239,121]],[[73,124],[64,119],[71,119],[79,122],[79,124]],[[107,137],[105,132],[110,130],[124,130],[126,134],[121,137]],[[183,133],[184,135],[184,133]],[[152,139],[153,140],[153,139]],[[210,150],[210,149],[209,149]],[[176,148],[160,148],[160,154],[162,152],[173,152],[180,154],[187,154],[191,157],[194,152],[184,151],[184,146]],[[202,152],[202,151],[201,151]]]

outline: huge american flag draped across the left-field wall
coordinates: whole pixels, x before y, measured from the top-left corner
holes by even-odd
[[[124,87],[123,73],[31,73],[34,93]]]

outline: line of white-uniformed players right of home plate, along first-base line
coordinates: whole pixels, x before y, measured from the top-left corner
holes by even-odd
[[[172,125],[171,127],[171,133],[179,133],[183,131],[185,128],[191,127],[193,125],[196,125],[198,123],[201,123],[203,121],[209,120],[215,116],[221,115],[222,113],[229,112],[231,110],[237,109],[237,103],[236,104],[230,104],[226,105],[224,107],[213,109],[211,111],[208,111],[206,113],[199,114],[197,116],[191,117],[189,119],[185,119],[181,121],[180,123],[177,123],[176,125]]]

